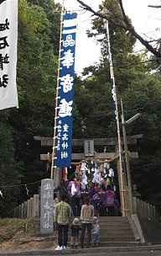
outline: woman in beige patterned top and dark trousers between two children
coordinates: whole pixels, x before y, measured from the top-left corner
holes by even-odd
[[[85,205],[81,206],[81,248],[84,248],[84,237],[87,228],[87,248],[91,245],[91,227],[94,218],[94,207],[90,205],[90,198],[85,199]]]

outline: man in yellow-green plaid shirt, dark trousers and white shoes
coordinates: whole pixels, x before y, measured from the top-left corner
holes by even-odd
[[[67,248],[68,230],[71,216],[70,205],[65,202],[66,195],[61,195],[60,203],[55,205],[55,227],[58,231],[58,247],[55,250],[60,251]]]

